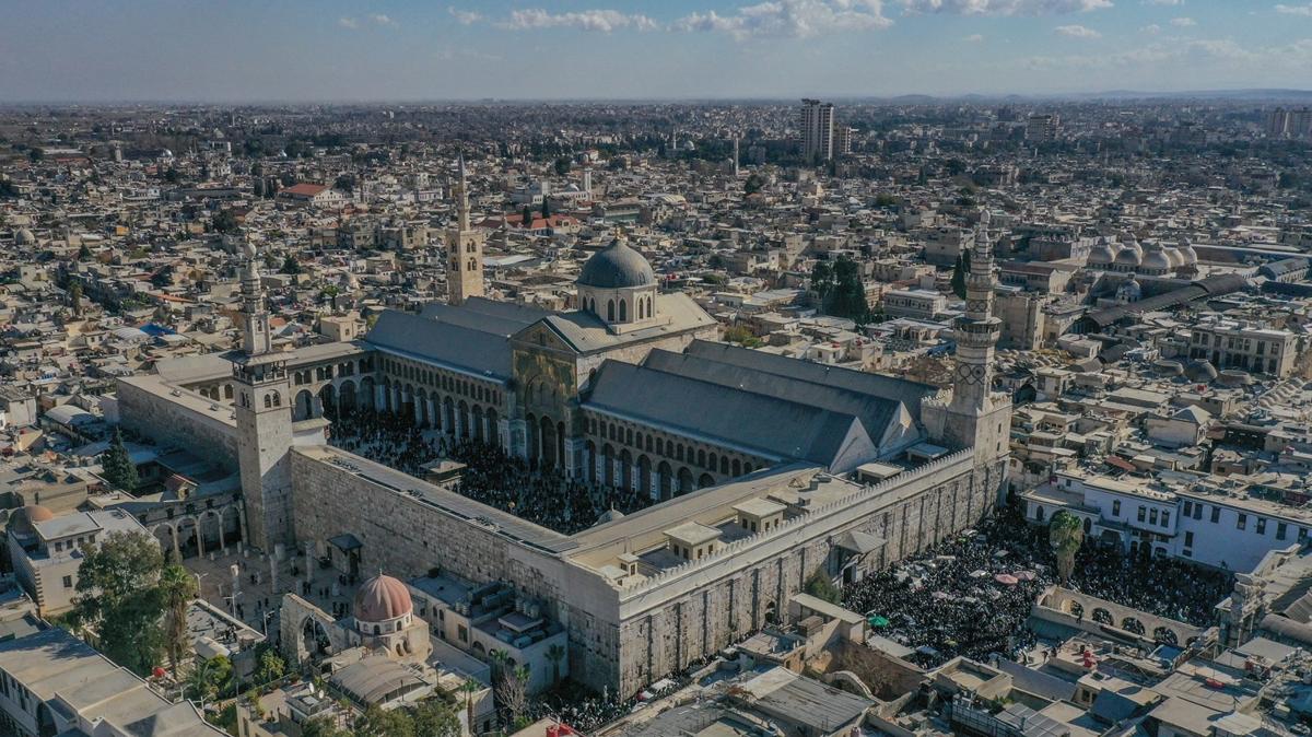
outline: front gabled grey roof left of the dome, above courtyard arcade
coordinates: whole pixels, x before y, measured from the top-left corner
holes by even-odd
[[[365,342],[395,355],[500,380],[510,379],[510,344],[504,334],[384,311]]]

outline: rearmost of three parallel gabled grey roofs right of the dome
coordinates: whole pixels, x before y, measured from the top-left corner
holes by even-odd
[[[796,358],[789,358],[761,350],[750,350],[729,344],[693,341],[691,345],[685,349],[685,353],[687,355],[719,361],[720,363],[732,363],[754,371],[777,374],[802,382],[811,382],[813,384],[824,384],[863,395],[897,400],[907,405],[907,409],[912,413],[912,417],[914,417],[917,422],[920,421],[920,400],[928,396],[934,396],[938,392],[938,387],[921,384],[920,382],[911,382],[896,376],[884,376],[882,374],[853,371],[851,368],[825,366],[813,361],[799,361]]]

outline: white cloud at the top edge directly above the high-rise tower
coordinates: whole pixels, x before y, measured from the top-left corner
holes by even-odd
[[[674,30],[720,31],[741,41],[752,37],[811,38],[892,25],[884,17],[883,0],[766,0],[743,5],[722,16],[715,10],[691,13]]]

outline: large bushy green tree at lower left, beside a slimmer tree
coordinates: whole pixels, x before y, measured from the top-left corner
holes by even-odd
[[[164,656],[164,555],[144,532],[110,532],[83,548],[72,622],[96,632],[100,650],[138,675]]]

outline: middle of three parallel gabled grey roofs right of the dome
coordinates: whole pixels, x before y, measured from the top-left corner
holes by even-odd
[[[798,359],[789,358],[786,361]],[[876,443],[884,437],[888,425],[897,420],[903,412],[903,403],[896,399],[886,399],[840,386],[807,382],[782,372],[770,374],[687,353],[653,350],[643,361],[643,366],[737,391],[851,414],[861,420],[866,433]]]

